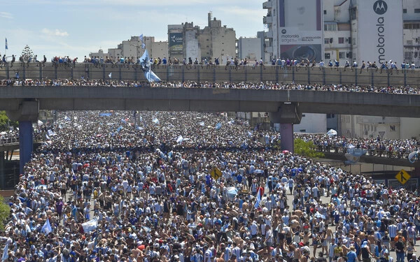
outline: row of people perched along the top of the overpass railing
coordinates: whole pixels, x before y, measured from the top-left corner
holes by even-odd
[[[378,64],[376,61],[364,61],[362,60],[360,64],[358,64],[357,61],[349,61],[346,60],[344,64],[340,64],[339,60],[329,60],[329,61],[315,61],[315,60],[309,60],[309,59],[290,59],[290,58],[273,58],[271,61],[263,61],[262,57],[257,60],[248,60],[248,59],[238,59],[233,57],[228,57],[226,61],[219,61],[220,57],[215,57],[214,59],[193,59],[192,57],[184,57],[183,59],[179,59],[176,57],[151,57],[150,62],[153,66],[186,66],[187,68],[201,66],[202,68],[209,68],[213,66],[225,66],[225,68],[232,67],[232,68],[242,68],[244,66],[252,66],[253,68],[258,66],[279,66],[280,68],[314,68],[318,67],[320,68],[335,68],[336,70],[341,70],[344,68],[344,71],[346,71],[347,68],[349,70],[360,70],[360,73],[365,70],[380,70],[381,72],[385,70],[386,72],[390,71],[393,73],[394,71],[398,73],[398,69],[400,70],[414,70],[416,68],[416,64],[409,63],[408,61],[402,61],[401,64],[397,64],[397,61],[393,61],[392,59],[389,61],[380,61]],[[15,55],[12,56],[11,61],[7,61],[6,55],[3,55],[1,61],[0,61],[0,67],[6,66],[10,62],[10,67],[13,67],[13,63],[15,63]],[[103,66],[123,66],[123,67],[130,67],[130,66],[139,66],[141,63],[140,61],[141,57],[123,57],[123,56],[117,56],[117,57],[108,57],[108,56],[93,56],[88,57],[85,56],[83,59],[83,64],[92,64],[96,67],[103,67]],[[36,66],[45,66],[45,63],[47,62],[47,58],[45,55],[43,56],[43,59],[39,59],[35,55],[34,57],[20,57],[19,58],[20,64],[22,66],[28,66],[30,63],[36,63]],[[69,56],[55,56],[50,59],[51,65],[56,67],[74,67],[78,63],[78,57],[71,58]],[[360,69],[359,69],[360,68]]]

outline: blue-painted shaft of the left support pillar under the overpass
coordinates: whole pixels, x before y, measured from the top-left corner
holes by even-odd
[[[31,160],[32,149],[34,148],[34,132],[31,121],[19,122],[19,157],[20,173],[23,174],[25,164]]]

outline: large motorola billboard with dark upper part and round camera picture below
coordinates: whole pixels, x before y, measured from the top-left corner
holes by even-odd
[[[321,0],[279,1],[279,54],[282,59],[323,59]]]

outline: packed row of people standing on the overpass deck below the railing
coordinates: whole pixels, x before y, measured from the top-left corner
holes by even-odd
[[[161,81],[144,82],[134,80],[89,80],[89,79],[7,79],[0,80],[0,87],[174,87],[174,88],[219,88],[219,89],[260,89],[260,90],[307,90],[324,92],[363,92],[381,94],[420,94],[418,87],[372,87],[363,85],[304,85],[275,82],[197,82]]]

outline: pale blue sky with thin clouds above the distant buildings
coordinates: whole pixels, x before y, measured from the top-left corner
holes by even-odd
[[[48,61],[106,52],[131,36],[167,41],[167,24],[207,25],[207,13],[233,28],[236,36],[263,31],[264,0],[0,0],[0,54],[20,56],[25,45]],[[2,43],[2,44],[1,44]]]

